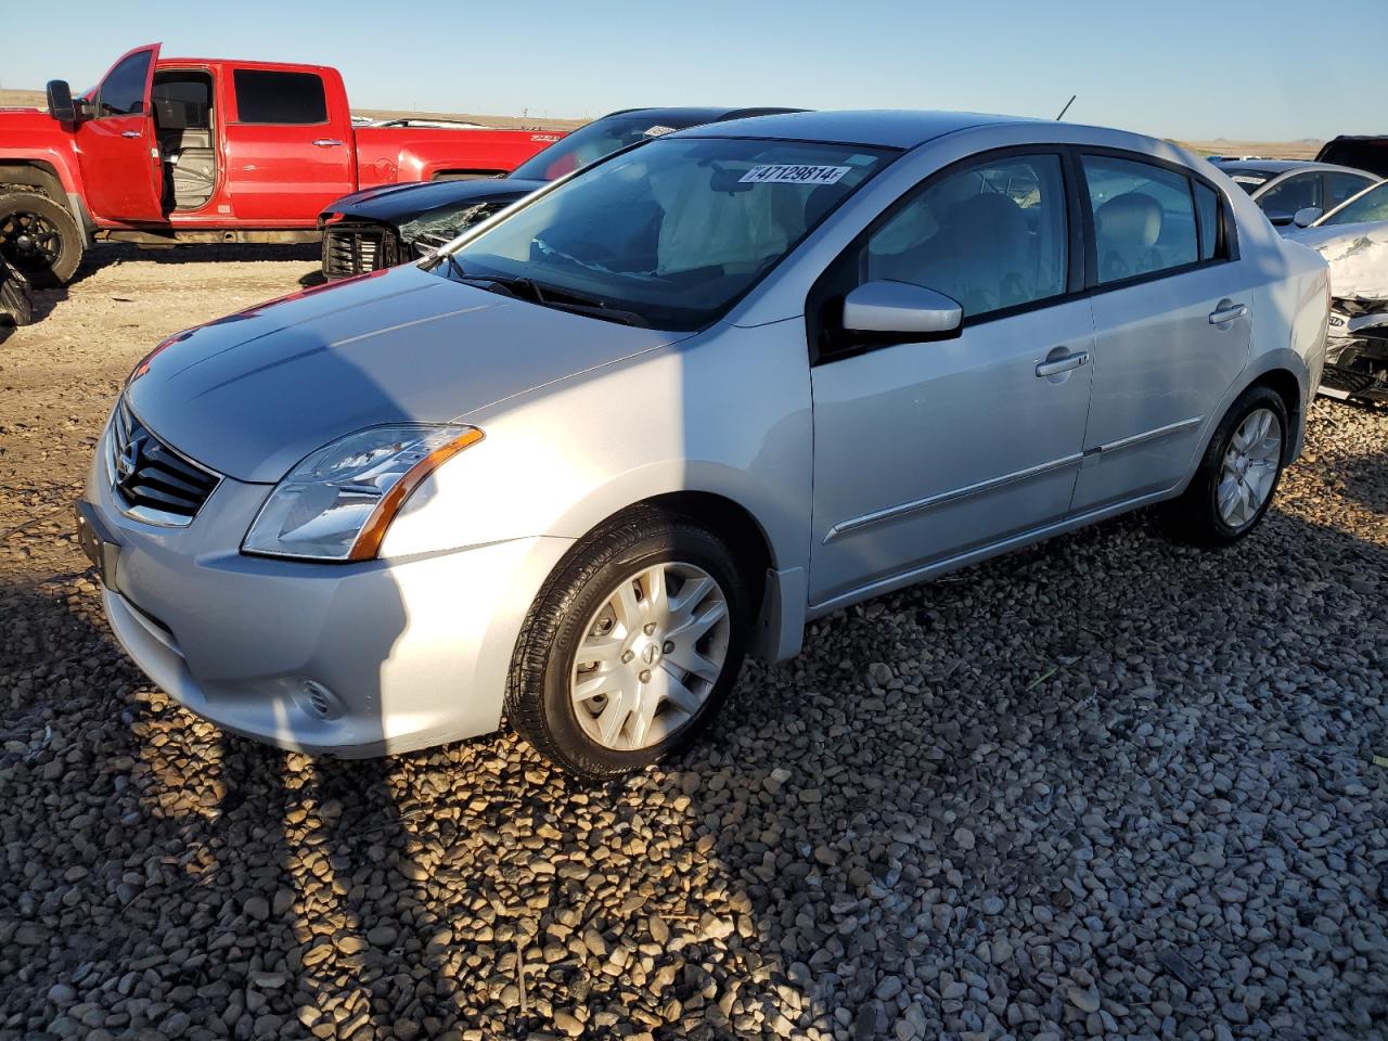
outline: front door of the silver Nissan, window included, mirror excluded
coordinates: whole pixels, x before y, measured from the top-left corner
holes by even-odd
[[[849,340],[837,354],[820,339],[812,605],[1069,514],[1094,321],[1066,200],[1059,154],[973,158],[908,194],[826,273],[834,296],[809,314],[886,279],[958,300],[965,323],[955,339]]]

